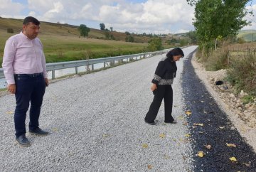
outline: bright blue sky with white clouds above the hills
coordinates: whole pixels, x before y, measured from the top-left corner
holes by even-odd
[[[256,0],[247,9],[247,16],[256,29]],[[85,24],[100,29],[100,23],[114,31],[130,33],[184,33],[193,31],[194,6],[186,0],[0,0],[0,16],[20,18],[34,16],[39,21]]]

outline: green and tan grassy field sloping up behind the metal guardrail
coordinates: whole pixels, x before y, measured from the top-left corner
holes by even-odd
[[[0,67],[6,40],[19,33],[21,26],[21,20],[0,18]],[[14,33],[7,33],[7,28],[13,28]],[[119,35],[121,41],[99,39],[105,35],[97,29],[91,29],[89,38],[83,38],[79,36],[78,28],[75,26],[42,22],[38,37],[43,43],[47,63],[142,53],[148,45],[149,38],[141,40],[145,43],[127,43],[122,41],[122,38],[125,39],[125,33],[113,34],[116,37]]]

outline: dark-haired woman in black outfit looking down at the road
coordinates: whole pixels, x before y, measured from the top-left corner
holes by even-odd
[[[151,91],[154,94],[154,100],[149,107],[149,112],[147,112],[145,117],[145,122],[147,124],[155,125],[154,119],[159,112],[161,102],[164,98],[164,122],[176,124],[177,122],[171,116],[172,106],[173,106],[173,90],[172,83],[174,82],[174,77],[176,77],[176,61],[183,58],[184,53],[181,48],[174,48],[166,54],[166,57],[161,59],[157,65],[154,78],[152,80]]]

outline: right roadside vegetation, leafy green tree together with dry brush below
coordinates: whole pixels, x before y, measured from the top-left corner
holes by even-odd
[[[227,69],[226,80],[233,85],[235,93],[243,90],[247,93],[243,99],[253,102],[256,97],[256,32],[240,31],[250,24],[244,17],[252,14],[245,9],[245,4],[251,0],[187,1],[196,6],[193,25],[199,45],[198,60],[206,70]]]

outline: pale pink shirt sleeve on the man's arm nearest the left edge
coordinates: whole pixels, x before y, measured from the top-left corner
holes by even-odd
[[[9,39],[6,41],[6,45],[4,47],[4,58],[2,63],[4,76],[6,77],[6,81],[9,85],[15,84],[13,66],[15,54],[16,45],[13,40]]]

